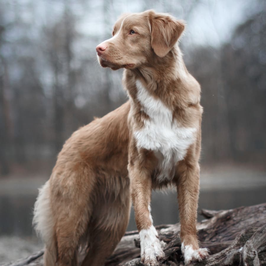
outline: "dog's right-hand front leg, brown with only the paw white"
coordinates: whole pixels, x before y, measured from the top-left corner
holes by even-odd
[[[177,167],[177,173],[181,251],[185,264],[188,264],[192,261],[201,261],[208,255],[208,249],[199,248],[196,229],[200,167],[198,163],[181,161]]]

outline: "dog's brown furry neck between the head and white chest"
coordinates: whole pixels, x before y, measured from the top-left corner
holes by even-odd
[[[159,98],[168,108],[175,110],[189,104],[186,92],[189,76],[182,53],[176,46],[163,58],[153,56],[138,68],[125,69],[123,81],[135,105],[139,105],[137,93],[138,85],[141,84],[150,95]]]

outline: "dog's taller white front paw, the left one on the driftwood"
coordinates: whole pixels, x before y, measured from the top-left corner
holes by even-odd
[[[147,266],[160,265],[158,260],[164,257],[164,252],[154,226],[140,231],[140,249],[142,263]]]

